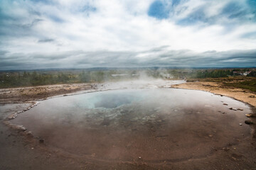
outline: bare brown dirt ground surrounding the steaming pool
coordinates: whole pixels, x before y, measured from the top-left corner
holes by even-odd
[[[224,87],[220,82],[188,82],[172,87],[210,91],[256,107],[254,93]],[[28,101],[90,89],[97,89],[97,84],[60,84],[0,89],[0,103],[2,103],[0,106],[0,169],[256,169],[255,137],[242,138],[235,145],[213,148],[213,154],[207,157],[157,164],[146,163],[143,159],[134,162],[99,163],[50,149],[28,133],[4,125],[4,120],[11,113],[28,108],[31,105],[31,103],[26,104]]]

